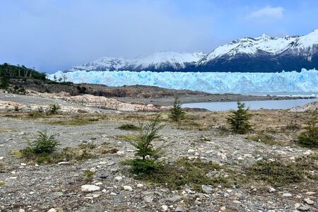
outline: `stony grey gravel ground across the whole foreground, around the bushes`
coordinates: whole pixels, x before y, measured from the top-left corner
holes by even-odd
[[[189,113],[182,124],[168,122],[163,113],[165,127],[155,141],[156,147],[164,147],[161,160],[213,161],[223,166],[209,175],[230,178],[224,171],[230,168],[242,177],[241,184],[201,184],[197,189],[193,184],[171,188],[137,180],[122,164],[134,158],[135,149],[125,137],[136,131],[118,127],[137,124],[138,119],[146,122],[153,113],[30,116],[28,112],[0,112],[0,211],[318,211],[317,177],[275,186],[248,180],[245,175],[245,167],[258,161],[298,163],[302,156],[317,154],[294,142],[310,112],[252,113],[255,131],[248,135],[228,131],[228,112]],[[86,119],[89,121],[84,122]],[[296,130],[285,129],[294,122],[295,127],[300,125]],[[116,151],[53,164],[19,158],[14,150],[25,148],[36,139],[37,131],[45,130],[61,142],[59,149],[93,143],[97,151],[105,145]],[[270,139],[264,131],[271,134]],[[317,176],[317,160],[310,163],[314,169],[308,171]],[[88,177],[86,170],[93,176]]]

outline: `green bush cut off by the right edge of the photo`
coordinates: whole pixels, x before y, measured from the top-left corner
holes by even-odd
[[[305,147],[318,148],[318,126],[317,126],[317,110],[312,117],[306,122],[305,131],[298,136],[298,143]]]

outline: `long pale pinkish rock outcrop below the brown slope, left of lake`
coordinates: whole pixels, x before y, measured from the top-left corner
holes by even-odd
[[[144,104],[141,102],[122,102],[113,98],[105,98],[103,96],[96,95],[75,95],[71,96],[69,93],[38,93],[34,90],[27,90],[28,95],[42,97],[42,98],[54,98],[65,100],[69,103],[83,105],[85,107],[98,107],[102,109],[119,110],[119,111],[158,111],[168,110],[170,107],[156,107],[152,104]]]

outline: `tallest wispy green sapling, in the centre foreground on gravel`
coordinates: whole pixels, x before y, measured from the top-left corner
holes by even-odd
[[[152,122],[141,124],[139,136],[135,141],[130,141],[131,145],[137,148],[135,155],[139,157],[126,161],[126,164],[132,166],[132,172],[136,174],[151,172],[160,167],[158,162],[160,151],[153,148],[153,140],[160,138],[158,131],[163,128],[160,123],[160,114],[158,114]]]

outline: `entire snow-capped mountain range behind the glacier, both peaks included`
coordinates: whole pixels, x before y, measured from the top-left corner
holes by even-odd
[[[203,52],[104,57],[68,71],[276,72],[318,69],[318,29],[303,36],[244,37]]]

